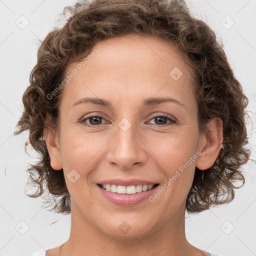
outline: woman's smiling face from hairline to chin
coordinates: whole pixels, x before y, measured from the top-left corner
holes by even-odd
[[[206,141],[198,131],[192,73],[180,53],[152,37],[110,38],[95,48],[86,65],[73,63],[66,72],[78,71],[64,87],[51,166],[63,168],[71,214],[79,221],[108,235],[140,237],[184,218]],[[126,200],[116,204],[98,185],[115,178],[159,185],[143,200],[129,204],[123,194]],[[121,232],[120,224],[130,230]]]

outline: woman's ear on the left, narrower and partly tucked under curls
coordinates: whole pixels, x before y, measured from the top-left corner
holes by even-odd
[[[49,127],[49,120],[45,121],[46,125],[43,129],[44,139],[47,145],[47,149],[50,156],[50,165],[55,170],[60,170],[62,168],[60,150],[59,150],[59,141],[57,133],[51,127]]]

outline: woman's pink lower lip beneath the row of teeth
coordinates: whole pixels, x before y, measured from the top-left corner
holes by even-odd
[[[131,205],[136,205],[146,198],[148,198],[152,193],[155,192],[156,188],[159,186],[156,185],[150,190],[147,190],[145,192],[139,192],[139,193],[134,193],[134,194],[118,194],[118,193],[113,193],[110,191],[106,191],[104,188],[102,188],[100,185],[96,185],[98,189],[101,191],[103,196],[108,199],[110,202],[116,204],[116,205],[121,205],[121,206],[131,206]]]

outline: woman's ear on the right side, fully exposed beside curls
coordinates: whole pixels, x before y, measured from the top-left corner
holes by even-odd
[[[223,141],[222,125],[221,118],[212,118],[208,122],[204,134],[201,134],[200,142],[203,141],[199,147],[201,154],[195,164],[198,169],[205,170],[215,162]]]

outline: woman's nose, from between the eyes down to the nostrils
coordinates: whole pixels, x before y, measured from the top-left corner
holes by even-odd
[[[146,146],[135,124],[125,130],[117,126],[116,134],[108,142],[106,160],[121,169],[137,168],[146,161]]]

